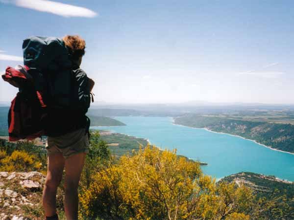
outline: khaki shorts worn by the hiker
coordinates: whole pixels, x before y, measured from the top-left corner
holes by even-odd
[[[48,137],[47,154],[62,153],[66,159],[73,154],[89,153],[89,138],[85,129],[79,129],[58,137]]]

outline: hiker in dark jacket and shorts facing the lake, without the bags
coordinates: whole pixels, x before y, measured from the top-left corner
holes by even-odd
[[[86,112],[90,106],[90,91],[94,81],[80,69],[85,54],[85,41],[79,36],[65,36],[63,42],[72,62],[72,99],[77,101],[69,108],[48,106],[48,172],[43,190],[43,207],[46,220],[58,220],[56,192],[65,169],[64,208],[67,220],[77,220],[78,183],[89,152],[89,120]],[[76,95],[74,95],[76,94]]]

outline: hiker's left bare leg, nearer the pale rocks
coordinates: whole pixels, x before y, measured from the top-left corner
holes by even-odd
[[[56,214],[56,193],[57,187],[62,179],[64,158],[61,153],[48,156],[48,171],[43,189],[43,207],[45,216]]]

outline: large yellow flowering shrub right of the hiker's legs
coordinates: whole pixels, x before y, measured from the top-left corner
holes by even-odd
[[[80,194],[85,219],[223,220],[245,212],[245,187],[216,185],[197,162],[147,146],[99,171]],[[245,216],[245,214],[244,214]]]

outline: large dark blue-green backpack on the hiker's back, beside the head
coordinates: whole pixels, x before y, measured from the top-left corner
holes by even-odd
[[[23,42],[24,65],[34,79],[35,90],[52,108],[71,105],[72,62],[61,39],[32,36]]]

